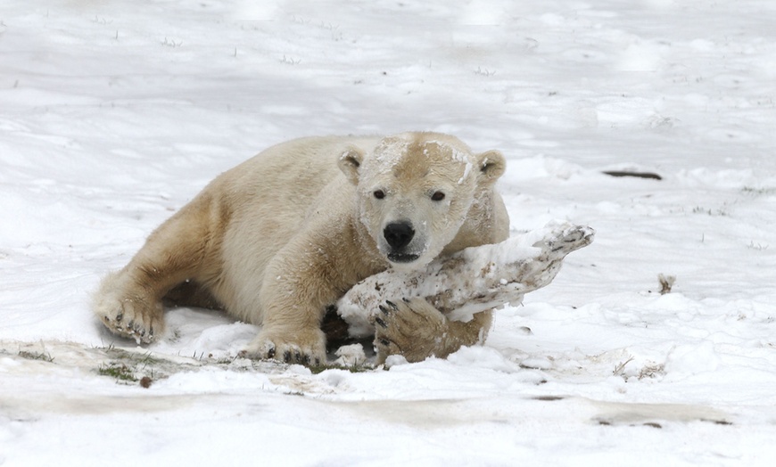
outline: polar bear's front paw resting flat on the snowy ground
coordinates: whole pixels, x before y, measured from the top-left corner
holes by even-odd
[[[257,360],[277,360],[287,364],[326,364],[326,335],[320,330],[278,332],[262,329],[241,356]]]

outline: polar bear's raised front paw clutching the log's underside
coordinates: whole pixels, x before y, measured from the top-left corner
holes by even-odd
[[[443,348],[448,320],[425,299],[385,301],[372,315],[377,365],[391,355],[420,362]]]

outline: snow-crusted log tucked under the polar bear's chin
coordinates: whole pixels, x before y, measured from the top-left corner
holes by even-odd
[[[337,302],[337,313],[351,337],[374,334],[369,315],[385,300],[421,297],[451,320],[467,322],[485,309],[517,305],[525,293],[549,284],[563,258],[589,245],[594,234],[587,226],[548,224],[504,242],[436,259],[412,273],[389,269],[354,285]]]

